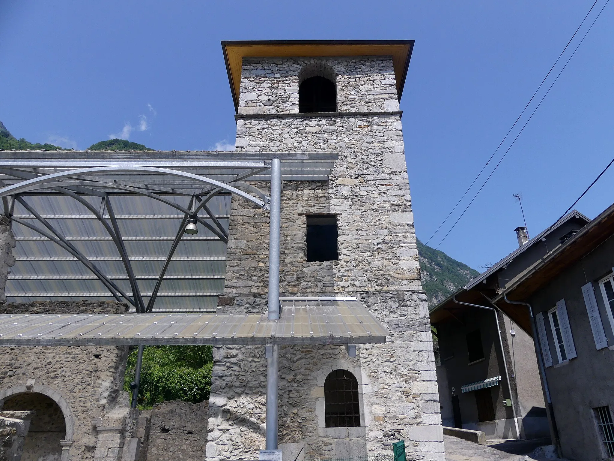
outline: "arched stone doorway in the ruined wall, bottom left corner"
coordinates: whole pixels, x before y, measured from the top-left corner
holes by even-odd
[[[66,436],[64,414],[49,396],[21,392],[4,398],[3,411],[36,411],[24,439],[21,461],[60,461]]]

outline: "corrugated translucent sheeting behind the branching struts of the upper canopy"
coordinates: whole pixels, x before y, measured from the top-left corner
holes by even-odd
[[[187,207],[187,197],[166,197]],[[84,197],[96,209],[99,197]],[[47,219],[101,272],[132,296],[125,267],[107,230],[84,205],[63,195],[33,195],[24,200]],[[176,208],[149,199],[113,195],[111,203],[134,275],[145,302],[155,286],[177,229],[183,218]],[[230,196],[218,195],[208,207],[228,230]],[[14,215],[44,229],[43,224],[19,202]],[[104,213],[104,216],[108,216]],[[155,219],[154,219],[155,217]],[[203,213],[203,218],[206,215]],[[208,219],[212,223],[211,219]],[[16,262],[7,281],[12,302],[113,299],[106,286],[87,267],[59,245],[38,232],[13,224]],[[182,236],[155,302],[156,312],[212,312],[217,294],[223,293],[226,245],[211,230],[198,224],[198,234]]]

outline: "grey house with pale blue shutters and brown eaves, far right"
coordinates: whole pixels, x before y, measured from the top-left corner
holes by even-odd
[[[553,432],[565,458],[614,459],[613,234],[614,205],[494,299],[527,320],[529,307],[518,304],[532,309]]]

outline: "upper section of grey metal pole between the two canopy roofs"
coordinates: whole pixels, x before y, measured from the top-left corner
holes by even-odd
[[[269,217],[268,320],[279,320],[279,221],[281,220],[281,162],[271,161],[271,215]]]

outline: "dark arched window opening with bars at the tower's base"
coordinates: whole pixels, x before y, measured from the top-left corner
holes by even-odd
[[[358,381],[347,370],[330,372],[324,381],[326,427],[360,426]]]

